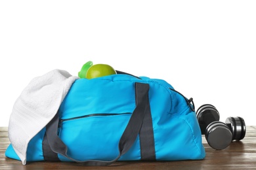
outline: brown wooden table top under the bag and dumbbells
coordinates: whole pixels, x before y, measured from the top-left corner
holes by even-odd
[[[232,142],[224,150],[213,150],[203,136],[206,157],[196,161],[119,161],[108,167],[83,167],[78,163],[28,162],[5,157],[9,145],[7,127],[0,127],[0,169],[256,169],[256,126],[247,126],[242,141]]]

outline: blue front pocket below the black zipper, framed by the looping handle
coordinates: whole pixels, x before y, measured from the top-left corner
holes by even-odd
[[[130,118],[131,113],[121,113],[64,119],[60,120],[58,135],[68,147],[68,156],[75,160],[113,160],[119,154],[119,139]],[[61,155],[59,158],[70,161]]]

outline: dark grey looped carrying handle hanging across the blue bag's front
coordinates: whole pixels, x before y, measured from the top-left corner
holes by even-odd
[[[142,126],[142,122],[146,112],[146,107],[150,105],[149,99],[148,99],[148,91],[149,91],[149,84],[144,84],[139,82],[135,83],[135,97],[137,99],[137,106],[135,107],[133,114],[131,114],[131,118],[127,124],[127,127],[125,127],[125,131],[123,132],[123,135],[119,140],[119,144],[118,144],[119,155],[117,156],[116,159],[110,160],[110,161],[102,161],[102,160],[79,161],[79,160],[70,158],[67,155],[68,148],[66,144],[64,144],[57,135],[58,114],[56,114],[53,120],[51,120],[51,122],[49,122],[49,124],[47,124],[46,126],[46,135],[47,135],[47,139],[49,142],[49,146],[51,147],[51,150],[53,150],[53,152],[57,154],[61,154],[62,156],[72,161],[82,163],[83,165],[106,166],[106,165],[110,165],[111,163],[114,163],[123,154],[125,154],[129,150],[129,148],[131,148],[131,146],[133,146],[133,143],[135,142],[139,134],[140,127]]]

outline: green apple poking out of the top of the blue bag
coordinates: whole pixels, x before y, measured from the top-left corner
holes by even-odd
[[[116,70],[107,64],[96,64],[88,69],[86,78],[91,79],[108,75],[116,75]]]

